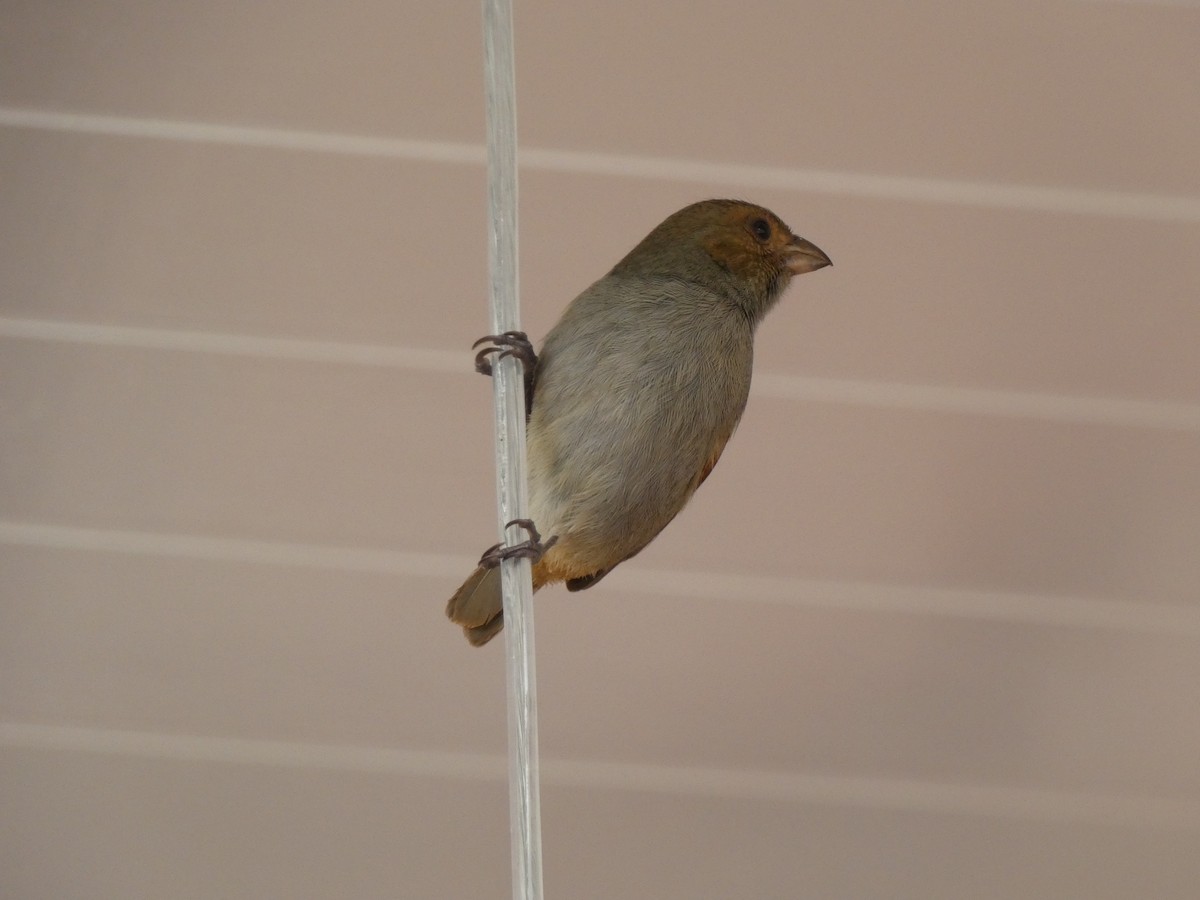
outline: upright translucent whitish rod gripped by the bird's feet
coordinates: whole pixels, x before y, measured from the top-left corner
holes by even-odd
[[[521,328],[517,290],[517,116],[510,0],[484,0],[484,78],[487,102],[488,269],[492,330]],[[496,499],[500,536],[526,538],[504,523],[522,518],[526,486],[524,383],[509,356],[494,366]],[[500,568],[509,694],[509,816],[512,896],[541,900],[541,808],[538,774],[538,690],[534,668],[533,586],[528,559]]]

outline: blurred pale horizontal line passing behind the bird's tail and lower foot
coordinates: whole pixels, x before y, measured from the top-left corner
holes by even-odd
[[[450,553],[412,553],[287,541],[211,538],[0,520],[0,545],[145,557],[457,578],[474,559]],[[631,565],[619,589],[718,602],[775,604],[796,608],[940,616],[1133,634],[1200,636],[1200,606],[1152,600],[1109,600],[1054,594],[905,587]],[[618,584],[614,583],[614,588]]]

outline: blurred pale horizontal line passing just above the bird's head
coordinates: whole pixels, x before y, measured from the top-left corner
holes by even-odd
[[[482,166],[484,146],[464,142],[413,140],[290,128],[116,115],[59,113],[0,107],[0,126],[200,144],[301,150],[394,160]],[[744,166],[698,160],[604,154],[524,146],[522,168],[542,172],[668,182],[721,182],[743,187],[800,191],[839,197],[913,200],[990,209],[1025,209],[1068,215],[1110,216],[1162,222],[1200,222],[1200,197],[998,184],[907,175]]]

